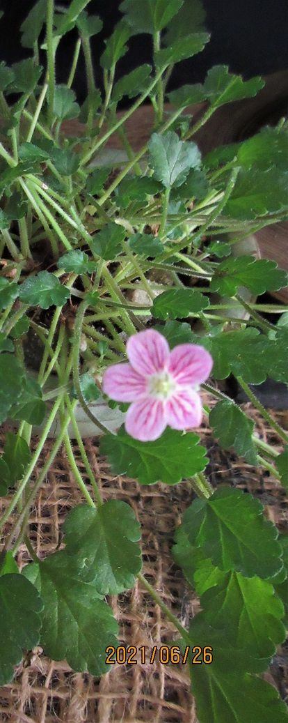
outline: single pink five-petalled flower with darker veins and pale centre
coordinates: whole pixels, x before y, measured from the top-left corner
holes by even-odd
[[[157,440],[167,424],[173,429],[198,427],[201,398],[196,388],[211,372],[213,360],[203,346],[179,344],[170,351],[153,329],[128,339],[128,363],[106,369],[103,390],[118,402],[131,402],[126,432],[141,442]]]

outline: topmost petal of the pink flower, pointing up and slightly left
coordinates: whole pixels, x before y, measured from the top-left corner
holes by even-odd
[[[130,364],[143,377],[161,372],[170,354],[166,339],[154,329],[131,336],[126,349]]]

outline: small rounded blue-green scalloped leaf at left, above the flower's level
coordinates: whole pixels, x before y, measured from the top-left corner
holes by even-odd
[[[25,304],[39,306],[41,309],[49,307],[63,307],[70,297],[69,288],[62,286],[57,276],[48,271],[40,271],[35,276],[29,276],[19,288],[19,298]]]

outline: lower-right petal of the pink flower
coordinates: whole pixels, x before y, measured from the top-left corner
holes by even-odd
[[[166,422],[173,429],[199,427],[202,419],[201,398],[193,389],[181,389],[171,397],[165,408]]]

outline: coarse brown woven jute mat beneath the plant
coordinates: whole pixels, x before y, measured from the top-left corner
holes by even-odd
[[[211,404],[211,400],[209,400]],[[263,420],[245,405],[256,421],[258,435],[277,448],[279,440],[266,429]],[[278,413],[279,422],[285,422]],[[201,427],[201,440],[209,450],[209,479],[214,487],[232,484],[256,495],[266,514],[281,531],[287,529],[287,497],[269,472],[255,469],[233,453],[220,450],[209,428]],[[2,440],[3,441],[3,440]],[[49,442],[35,476],[51,449]],[[142,487],[134,480],[111,474],[101,458],[97,440],[85,442],[87,455],[105,500],[124,500],[134,509],[141,523],[143,573],[161,594],[163,601],[178,615],[183,625],[198,612],[199,604],[183,573],[173,563],[173,532],[194,494],[183,482],[175,487],[155,484]],[[79,469],[85,470],[74,445]],[[62,545],[61,528],[69,510],[82,501],[65,450],[62,449],[49,471],[30,515],[30,537],[39,557],[45,557]],[[8,499],[1,499],[4,509]],[[19,549],[20,568],[29,561],[27,549]],[[197,723],[185,665],[149,664],[152,646],[177,639],[173,625],[136,582],[132,591],[110,597],[120,627],[120,643],[147,646],[147,660],[136,665],[113,665],[101,680],[87,673],[74,673],[65,662],[51,662],[38,648],[26,656],[11,684],[0,688],[0,720],[11,723]],[[0,641],[1,644],[1,641]],[[286,695],[285,648],[279,648],[272,673],[283,697]]]

